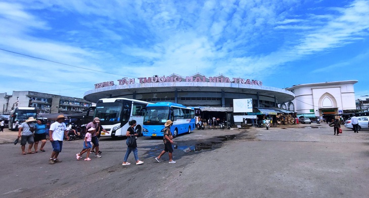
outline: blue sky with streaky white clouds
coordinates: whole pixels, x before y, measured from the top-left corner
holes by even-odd
[[[104,81],[198,72],[277,88],[358,80],[356,98],[369,95],[364,0],[0,0],[0,27],[0,93],[81,98]]]

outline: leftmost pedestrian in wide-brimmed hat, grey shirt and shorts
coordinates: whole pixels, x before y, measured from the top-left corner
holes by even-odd
[[[31,149],[33,147],[34,139],[33,139],[33,130],[34,130],[34,122],[36,120],[33,117],[29,117],[25,122],[21,124],[21,126],[18,129],[18,138],[21,138],[21,149],[22,149],[22,155],[26,155],[25,149],[26,144],[28,142],[28,154],[33,154],[34,152],[31,152]]]

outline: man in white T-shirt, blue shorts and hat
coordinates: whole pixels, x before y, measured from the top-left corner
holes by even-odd
[[[58,159],[58,156],[59,153],[62,152],[64,136],[67,137],[67,141],[69,140],[69,137],[67,136],[67,126],[65,125],[64,120],[64,115],[58,115],[56,122],[50,125],[49,140],[53,146],[53,152],[51,153],[51,157],[49,159],[50,164],[62,162]]]

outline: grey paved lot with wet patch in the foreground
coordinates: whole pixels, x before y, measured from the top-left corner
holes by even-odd
[[[81,140],[65,142],[63,162],[54,165],[48,164],[50,143],[47,152],[25,156],[19,145],[0,144],[0,195],[369,197],[369,131],[343,130],[333,136],[333,128],[314,123],[269,130],[195,130],[175,139],[176,164],[168,164],[167,155],[157,163],[153,157],[162,140],[141,137],[137,144],[144,165],[125,167],[123,139],[101,140],[103,157],[89,162],[74,157]],[[185,152],[194,148],[200,151]],[[129,161],[134,162],[132,154]]]

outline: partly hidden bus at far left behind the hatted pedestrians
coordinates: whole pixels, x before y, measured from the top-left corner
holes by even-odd
[[[8,128],[10,130],[17,130],[18,129],[18,126],[16,125],[17,120],[20,126],[22,122],[28,119],[28,117],[33,117],[36,119],[37,117],[36,107],[16,107],[14,110],[10,112]]]

